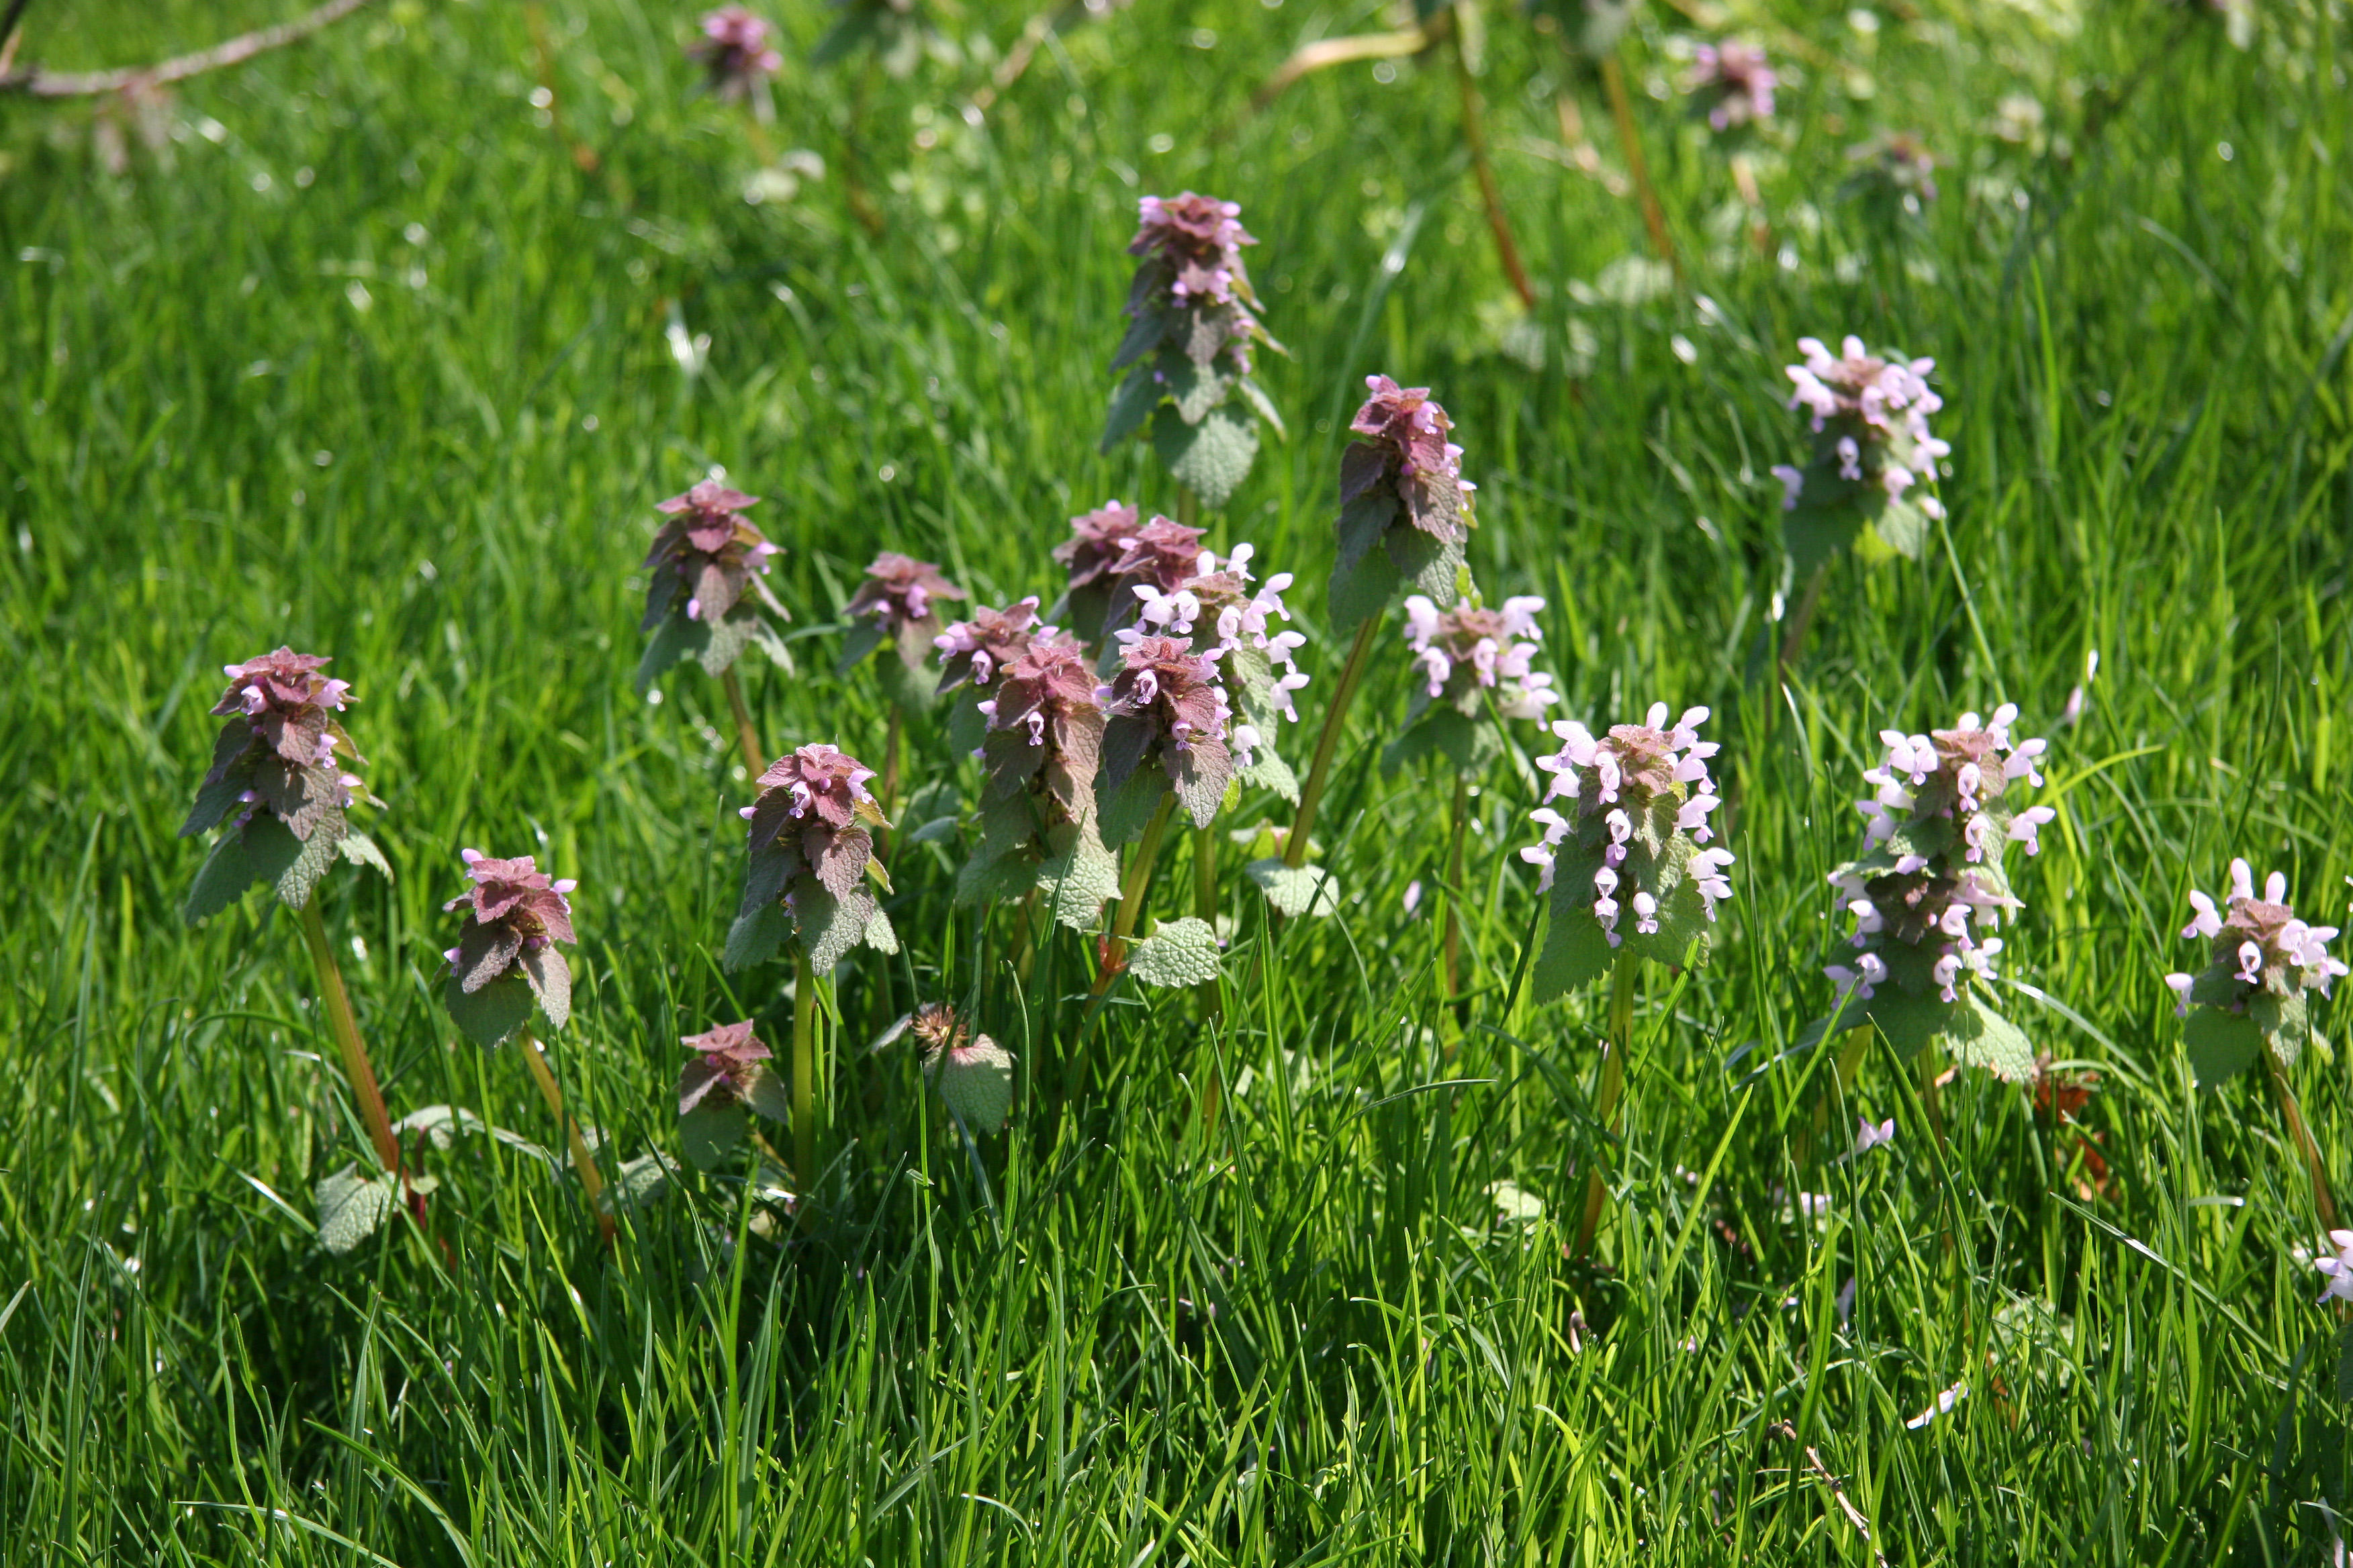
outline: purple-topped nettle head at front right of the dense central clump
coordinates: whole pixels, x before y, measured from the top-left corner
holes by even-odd
[[[1191,637],[1120,632],[1120,670],[1096,686],[1104,705],[1104,773],[1094,799],[1106,844],[1144,832],[1165,790],[1207,827],[1233,783],[1228,724],[1233,705],[1219,679],[1219,654],[1193,651]]]

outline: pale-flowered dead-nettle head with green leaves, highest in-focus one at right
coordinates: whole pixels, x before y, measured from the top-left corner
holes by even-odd
[[[1939,442],[1927,416],[1944,407],[1927,386],[1934,360],[1882,360],[1849,336],[1833,357],[1821,339],[1798,339],[1805,364],[1791,364],[1795,395],[1788,407],[1812,418],[1814,454],[1807,465],[1774,465],[1781,480],[1781,538],[1800,578],[1847,548],[1866,559],[1920,559],[1927,524],[1944,503],[1913,494],[1934,482]]]

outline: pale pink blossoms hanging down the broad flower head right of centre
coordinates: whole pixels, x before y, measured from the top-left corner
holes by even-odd
[[[1593,872],[1593,919],[1600,922],[1612,947],[1624,940],[1617,929],[1624,912],[1617,898],[1624,886],[1619,867],[1626,865],[1635,835],[1635,813],[1647,811],[1661,797],[1673,797],[1678,788],[1687,788],[1689,795],[1675,809],[1675,832],[1687,832],[1694,844],[1715,837],[1708,827],[1708,813],[1720,802],[1708,780],[1708,757],[1720,748],[1699,738],[1708,710],[1685,708],[1673,724],[1666,722],[1666,703],[1652,703],[1642,724],[1612,724],[1609,733],[1600,738],[1577,719],[1560,719],[1553,724],[1560,750],[1537,759],[1537,766],[1553,776],[1553,785],[1544,792],[1546,804],[1529,811],[1529,820],[1544,827],[1544,842],[1522,849],[1520,858],[1541,865],[1544,875],[1537,886],[1539,891],[1551,889],[1558,846],[1574,830],[1574,823],[1553,811],[1551,802],[1569,799],[1577,802],[1579,818],[1598,816],[1607,844],[1602,863]],[[1720,898],[1732,898],[1727,865],[1732,865],[1732,851],[1699,849],[1685,867],[1699,889],[1708,919],[1715,919]],[[1638,933],[1649,936],[1659,929],[1659,905],[1647,891],[1635,889],[1628,903]]]

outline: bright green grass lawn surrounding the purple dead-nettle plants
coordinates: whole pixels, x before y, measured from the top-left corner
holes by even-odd
[[[1626,59],[1685,292],[1612,289],[1640,214],[1537,155],[1560,56],[1499,9],[1492,132],[1546,294],[1518,327],[1445,68],[1353,66],[1242,115],[1365,7],[1136,7],[1049,40],[979,127],[955,85],[981,66],[864,87],[795,66],[767,136],[831,174],[760,205],[746,120],[689,94],[689,9],[369,9],[191,82],[169,165],[129,136],[125,174],[92,108],[0,103],[0,1556],[2332,1552],[2353,1472],[2339,1324],[2289,1258],[2311,1194],[2254,1079],[2191,1088],[2160,976],[2186,889],[2233,853],[2287,870],[2315,919],[2353,872],[2339,5],[2266,7],[2247,52],[2125,5],[1932,2],[1875,31],[1737,7],[1802,75],[1758,162],[1765,252],[1722,155],[1640,96],[1685,28],[1647,14]],[[153,59],[264,14],[33,5],[26,59]],[[1019,21],[960,26],[1002,47]],[[786,24],[798,59],[821,16]],[[527,96],[544,71],[555,125]],[[1614,160],[1600,94],[1574,92]],[[1986,134],[2014,92],[2066,155]],[[880,240],[838,181],[854,94]],[[1875,127],[1953,160],[1904,230],[1833,195]],[[1148,454],[1092,435],[1134,197],[1179,186],[1245,202],[1292,348],[1268,364],[1292,440],[1212,520],[1301,574],[1318,686],[1285,750],[1341,654],[1320,578],[1337,425],[1372,369],[1457,416],[1473,564],[1489,595],[1551,599],[1565,712],[1718,712],[1739,898],[1708,966],[1638,997],[1605,1274],[1562,1260],[1605,1147],[1605,1004],[1504,1011],[1534,912],[1525,757],[1475,799],[1457,1039],[1428,903],[1402,910],[1440,875],[1447,785],[1374,766],[1395,646],[1322,816],[1341,914],[1271,926],[1228,875],[1221,1023],[1191,992],[1122,992],[1066,1117],[1042,1074],[1071,1051],[1082,943],[1014,985],[1002,919],[951,910],[953,858],[925,849],[892,903],[906,957],[840,978],[814,1222],[692,1178],[607,1255],[569,1178],[464,1138],[428,1157],[435,1246],[320,1253],[308,1192],[365,1140],[296,924],[259,898],[176,917],[214,670],[292,642],[358,684],[388,802],[365,825],[400,879],[339,872],[325,914],[393,1112],[466,1105],[555,1143],[513,1053],[438,1009],[438,905],[475,844],[581,879],[555,1070],[612,1157],[668,1147],[673,1041],[746,1013],[784,1039],[791,1004],[779,966],[715,961],[746,799],[715,684],[631,689],[649,501],[708,463],[769,498],[800,672],[746,665],[762,736],[880,750],[871,677],[831,677],[875,548],[1002,602],[1052,595],[1071,512],[1174,505]],[[711,336],[701,374],[673,324]],[[1784,698],[1765,468],[1800,449],[1777,388],[1807,331],[1939,360],[1953,524],[1920,564],[1835,567]],[[2082,722],[2054,729],[2092,651]],[[1894,1147],[1802,1164],[1831,1079],[1779,1051],[1826,1006],[1824,872],[1873,736],[2002,698],[2052,736],[2061,811],[2002,1001],[2101,1074],[2085,1133],[1962,1077],[1939,1143],[1880,1048],[1828,1126],[1892,1114]],[[969,799],[972,766],[915,745],[915,780]],[[1233,823],[1261,813],[1282,820],[1245,802]],[[1191,910],[1188,853],[1162,860],[1162,914]],[[939,997],[1026,1067],[1012,1131],[976,1150],[904,1041],[866,1051]],[[1214,1128],[1186,1110],[1209,1081]],[[2311,1056],[2297,1088],[2353,1173],[2344,1063]],[[1508,1218],[1499,1180],[1541,1218]],[[1800,1185],[1828,1218],[1786,1213]]]

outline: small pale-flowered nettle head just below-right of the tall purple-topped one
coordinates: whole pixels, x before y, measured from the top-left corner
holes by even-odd
[[[1454,609],[1438,609],[1424,595],[1405,599],[1405,642],[1414,651],[1414,691],[1405,710],[1405,733],[1381,750],[1381,769],[1398,771],[1414,757],[1438,752],[1457,773],[1485,769],[1501,741],[1482,724],[1487,703],[1504,719],[1544,722],[1560,701],[1553,677],[1534,668],[1544,630],[1544,599],[1515,595],[1489,609],[1473,595]]]

